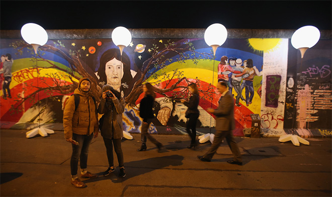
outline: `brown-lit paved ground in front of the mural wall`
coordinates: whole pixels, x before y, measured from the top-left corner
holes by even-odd
[[[155,135],[167,148],[137,152],[140,135],[124,140],[127,176],[108,167],[99,136],[90,146],[88,169],[99,173],[78,189],[70,180],[71,146],[62,131],[27,139],[25,130],[1,130],[1,196],[331,196],[331,138],[311,138],[309,146],[280,143],[278,138],[236,137],[243,166],[226,163],[231,153],[223,143],[212,162],[199,161],[210,142],[186,148],[186,135]],[[117,164],[117,160],[115,160]]]

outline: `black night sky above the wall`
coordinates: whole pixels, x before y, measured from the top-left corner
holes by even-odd
[[[0,1],[1,30],[207,28],[331,30],[332,1]]]

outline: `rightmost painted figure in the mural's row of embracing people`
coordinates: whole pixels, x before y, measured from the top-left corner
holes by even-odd
[[[249,74],[249,76],[243,78],[243,83],[245,88],[248,89],[248,92],[245,91],[245,103],[246,106],[249,106],[250,104],[252,104],[253,102],[253,98],[254,98],[254,85],[253,85],[253,81],[254,81],[254,76],[256,75],[255,70],[254,70],[254,63],[252,59],[247,59],[246,61],[246,68],[243,69],[241,74],[237,74],[235,75],[235,77],[240,77],[243,76],[245,74]],[[250,96],[249,96],[250,93]]]

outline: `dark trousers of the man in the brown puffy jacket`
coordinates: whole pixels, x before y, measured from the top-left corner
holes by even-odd
[[[71,175],[77,174],[77,165],[79,160],[79,165],[81,169],[87,168],[89,146],[94,135],[78,135],[73,133],[72,139],[79,143],[79,145],[71,144],[72,154],[70,158],[70,172]]]

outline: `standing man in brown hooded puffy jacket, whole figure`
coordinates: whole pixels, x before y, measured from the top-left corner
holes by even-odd
[[[71,143],[72,154],[70,158],[71,184],[77,188],[87,185],[77,177],[77,165],[79,160],[80,177],[97,178],[87,170],[89,146],[93,138],[98,136],[98,117],[96,102],[91,93],[91,81],[89,78],[81,78],[74,94],[78,94],[79,102],[75,106],[74,96],[66,101],[63,111],[64,138]]]

